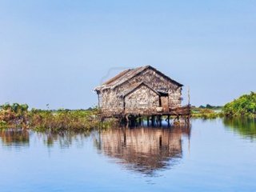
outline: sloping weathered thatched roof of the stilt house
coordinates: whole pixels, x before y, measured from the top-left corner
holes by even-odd
[[[101,86],[97,86],[94,90],[114,89],[115,87],[122,85],[122,83],[130,80],[130,78],[134,78],[134,76],[141,74],[144,70],[147,69],[154,70],[157,74],[160,74],[162,77],[168,79],[170,82],[173,82],[178,86],[183,86],[179,82],[176,82],[165,74],[162,74],[162,72],[156,70],[153,66],[140,66],[138,68],[122,71],[120,74],[114,76],[114,78],[110,78],[110,80],[102,83]]]

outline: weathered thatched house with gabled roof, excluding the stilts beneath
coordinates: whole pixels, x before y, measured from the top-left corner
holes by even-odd
[[[94,90],[105,116],[170,114],[182,102],[182,84],[152,66],[124,70]]]

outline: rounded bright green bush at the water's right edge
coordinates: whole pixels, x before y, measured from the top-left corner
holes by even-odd
[[[226,116],[246,116],[256,117],[256,93],[244,94],[233,102],[227,103],[223,107]]]

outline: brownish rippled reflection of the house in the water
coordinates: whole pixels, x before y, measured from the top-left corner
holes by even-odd
[[[190,137],[190,127],[117,128],[99,132],[95,144],[127,169],[154,174],[182,158],[182,134]]]

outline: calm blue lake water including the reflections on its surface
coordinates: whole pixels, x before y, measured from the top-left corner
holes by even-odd
[[[0,191],[256,191],[255,119],[0,130]]]

